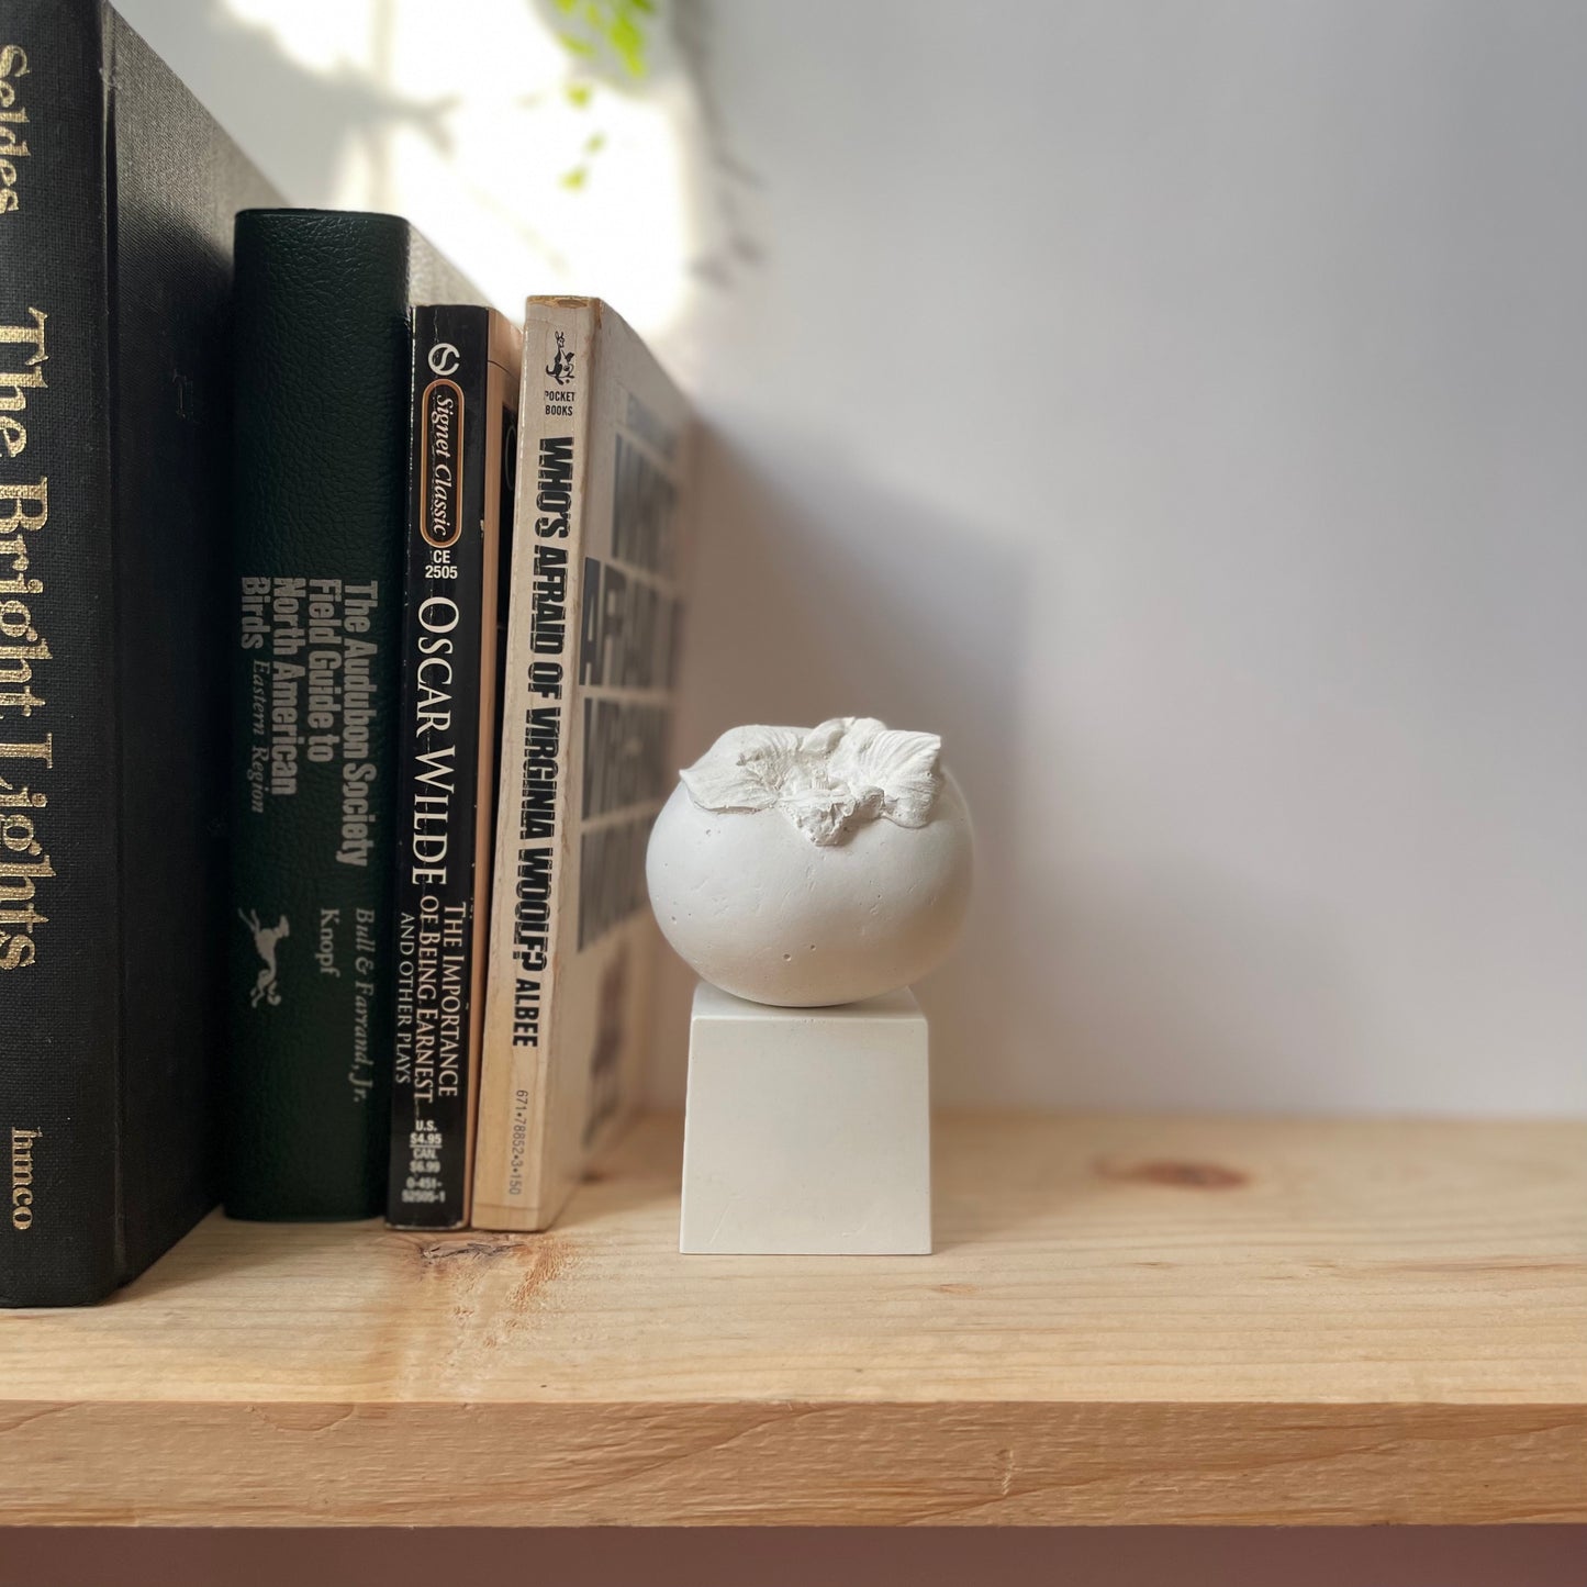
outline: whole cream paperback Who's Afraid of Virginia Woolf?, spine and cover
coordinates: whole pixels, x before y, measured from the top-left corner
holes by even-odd
[[[528,300],[478,1228],[544,1228],[640,1087],[690,452],[686,400],[617,313]]]

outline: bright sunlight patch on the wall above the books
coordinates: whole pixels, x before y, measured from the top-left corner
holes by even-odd
[[[514,314],[530,292],[587,292],[647,336],[678,316],[690,90],[665,51],[617,87],[579,71],[532,0],[222,5],[357,98],[324,151],[333,206],[406,214]]]

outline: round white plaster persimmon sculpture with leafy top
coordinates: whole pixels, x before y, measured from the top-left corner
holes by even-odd
[[[682,773],[646,857],[655,917],[697,974],[786,1008],[933,970],[970,876],[970,814],[941,740],[873,717],[724,733]]]

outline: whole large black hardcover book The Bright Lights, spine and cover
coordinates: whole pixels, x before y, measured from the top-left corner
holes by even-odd
[[[0,1303],[216,1200],[232,221],[273,192],[98,0],[0,5]]]

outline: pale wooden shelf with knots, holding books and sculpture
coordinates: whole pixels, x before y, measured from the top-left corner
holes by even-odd
[[[211,1217],[0,1314],[0,1522],[1587,1520],[1587,1125],[938,1124],[933,1257]]]

